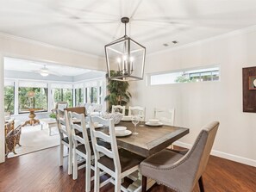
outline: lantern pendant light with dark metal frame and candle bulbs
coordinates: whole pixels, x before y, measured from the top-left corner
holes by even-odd
[[[122,17],[121,22],[125,26],[124,36],[105,46],[108,76],[118,81],[142,80],[146,47],[126,34],[129,18]]]

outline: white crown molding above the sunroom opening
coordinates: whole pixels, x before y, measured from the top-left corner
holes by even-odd
[[[69,49],[69,48],[62,47],[62,46],[53,46],[51,44],[47,44],[47,43],[44,43],[44,42],[41,42],[41,41],[38,41],[38,40],[30,40],[30,39],[20,37],[20,36],[16,36],[16,35],[13,35],[13,34],[5,34],[3,32],[0,32],[0,37],[6,38],[6,39],[11,39],[11,40],[20,40],[20,41],[23,41],[23,42],[27,42],[27,43],[30,43],[30,44],[37,45],[37,46],[45,46],[47,48],[58,49],[60,51],[65,51],[65,52],[69,52],[69,53],[76,53],[76,54],[84,55],[86,57],[91,57],[91,58],[96,58],[96,59],[104,59],[103,57],[98,56],[96,54],[84,53],[84,52],[76,51],[76,50]]]

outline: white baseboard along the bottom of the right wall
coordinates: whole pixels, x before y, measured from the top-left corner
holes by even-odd
[[[182,147],[185,147],[185,148],[188,148],[188,149],[190,149],[191,146],[192,146],[190,144],[183,143],[183,142],[180,142],[180,141],[174,142],[174,145],[182,146]],[[250,159],[250,158],[243,158],[243,157],[240,157],[240,156],[237,156],[237,155],[229,154],[229,153],[226,153],[226,152],[219,152],[219,151],[216,151],[216,150],[212,150],[210,152],[210,154],[214,155],[214,156],[217,156],[219,158],[226,158],[228,160],[235,161],[235,162],[238,162],[240,164],[247,164],[247,165],[256,167],[256,160],[253,160],[253,159]]]

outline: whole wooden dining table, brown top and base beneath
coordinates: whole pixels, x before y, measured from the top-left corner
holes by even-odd
[[[149,126],[146,124],[142,122],[142,125],[136,128],[136,133],[138,134],[133,134],[134,124],[131,121],[121,121],[118,123],[116,127],[127,127],[132,134],[125,137],[116,137],[117,146],[147,158],[164,150],[167,146],[171,146],[174,141],[190,133],[190,129],[185,127],[162,124],[159,126]],[[134,172],[130,178],[134,180],[134,183],[128,186],[128,191],[139,192],[141,190],[140,171]],[[154,183],[155,181],[153,179],[148,178],[147,190],[150,189]]]

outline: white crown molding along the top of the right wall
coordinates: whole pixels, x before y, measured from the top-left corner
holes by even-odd
[[[165,50],[161,50],[161,51],[154,52],[154,53],[148,53],[147,55],[152,56],[152,55],[160,54],[160,53],[169,53],[169,52],[172,52],[172,51],[177,51],[179,49],[189,48],[191,46],[197,46],[197,45],[200,45],[200,44],[203,44],[203,43],[208,43],[208,42],[211,42],[211,41],[214,41],[214,40],[222,40],[222,39],[225,39],[225,38],[228,38],[228,37],[231,37],[231,36],[235,36],[235,35],[239,35],[239,34],[248,34],[250,32],[255,32],[255,31],[256,31],[256,25],[248,27],[248,28],[240,28],[240,29],[228,32],[226,34],[220,34],[220,35],[216,35],[216,36],[213,36],[213,37],[210,37],[210,38],[207,38],[207,39],[197,40],[197,41],[194,41],[194,42],[191,42],[191,43],[187,43],[187,44],[184,44],[184,45],[181,45],[181,46],[167,48]]]

